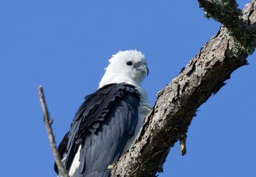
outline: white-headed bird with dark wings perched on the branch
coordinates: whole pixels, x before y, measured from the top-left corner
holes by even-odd
[[[138,50],[109,59],[99,88],[85,97],[58,146],[70,177],[109,176],[109,165],[129,150],[151,109],[141,87],[147,75],[146,58]],[[56,164],[54,170],[59,173]]]

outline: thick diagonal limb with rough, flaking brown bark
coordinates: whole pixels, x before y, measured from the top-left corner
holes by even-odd
[[[243,8],[243,19],[248,25],[255,24],[255,1]],[[170,147],[179,140],[184,146],[198,107],[225,85],[234,70],[247,64],[247,56],[248,50],[221,27],[186,68],[159,91],[138,139],[114,165],[111,176],[154,176],[162,171]]]

